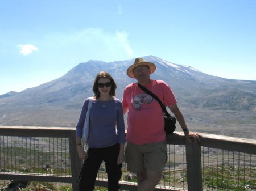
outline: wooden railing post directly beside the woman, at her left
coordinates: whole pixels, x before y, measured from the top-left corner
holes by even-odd
[[[78,191],[79,185],[77,184],[77,179],[82,168],[82,160],[76,150],[76,131],[69,133],[69,154],[71,160],[71,174],[72,174],[72,188]]]

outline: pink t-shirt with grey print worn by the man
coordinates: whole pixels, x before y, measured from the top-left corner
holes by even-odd
[[[166,106],[177,103],[171,88],[162,80],[151,80],[144,87],[158,96]],[[128,109],[126,141],[142,145],[166,139],[162,108],[137,83],[125,88],[122,104],[124,111]]]

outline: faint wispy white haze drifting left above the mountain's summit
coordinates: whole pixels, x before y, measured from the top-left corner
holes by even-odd
[[[72,33],[51,34],[45,42],[51,42],[52,49],[58,52],[72,53],[75,59],[89,57],[93,60],[113,61],[131,58],[133,50],[128,37],[125,31],[106,32],[99,28],[87,28]]]

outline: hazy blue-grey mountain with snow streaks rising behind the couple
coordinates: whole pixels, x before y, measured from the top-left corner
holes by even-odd
[[[232,80],[201,73],[156,56],[152,79],[164,80],[174,91],[186,121],[192,124],[256,124],[256,81]],[[103,62],[89,60],[60,78],[28,88],[13,96],[0,96],[0,125],[75,126],[99,71],[108,71],[117,83],[117,97],[135,82],[126,75],[134,59]],[[242,117],[241,117],[242,116]]]

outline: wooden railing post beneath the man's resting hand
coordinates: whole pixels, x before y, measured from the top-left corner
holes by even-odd
[[[194,140],[186,140],[188,191],[203,191],[201,170],[201,146]]]

